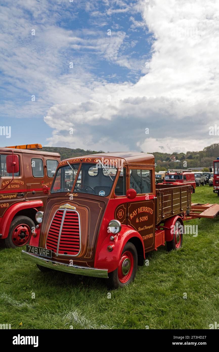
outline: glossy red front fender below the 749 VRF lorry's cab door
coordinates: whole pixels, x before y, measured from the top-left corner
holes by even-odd
[[[130,238],[137,237],[142,243],[142,249],[144,254],[144,243],[141,235],[135,231],[133,228],[122,226],[122,230],[118,235],[115,235],[115,240],[110,240],[110,234],[105,238],[99,252],[95,255],[95,268],[108,269],[108,272],[114,271],[118,267],[119,260],[122,255],[122,250],[124,245],[128,242]],[[107,247],[112,246],[113,250],[108,251]],[[145,259],[145,254],[144,254]]]

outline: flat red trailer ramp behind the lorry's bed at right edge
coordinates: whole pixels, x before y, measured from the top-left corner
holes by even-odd
[[[187,216],[187,220],[197,218],[213,219],[217,215],[219,215],[219,204],[192,203],[191,211],[189,216]]]

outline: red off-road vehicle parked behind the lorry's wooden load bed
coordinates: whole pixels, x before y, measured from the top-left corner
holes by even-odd
[[[164,184],[175,184],[175,185],[191,185],[192,193],[195,193],[195,176],[194,172],[190,170],[179,170],[172,169],[166,172],[165,179],[163,180]]]

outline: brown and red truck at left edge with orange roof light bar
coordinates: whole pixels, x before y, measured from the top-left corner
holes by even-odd
[[[0,148],[0,244],[28,243],[35,215],[44,210],[59,153],[42,151],[41,144]]]

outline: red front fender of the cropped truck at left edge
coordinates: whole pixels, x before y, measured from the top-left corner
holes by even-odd
[[[11,226],[11,222],[14,218],[14,216],[23,209],[29,209],[29,208],[37,208],[37,207],[43,207],[43,201],[41,200],[30,200],[26,202],[20,202],[20,203],[15,203],[11,207],[9,207],[1,221],[0,225],[0,233],[2,234],[1,238],[6,238],[8,237],[8,232],[9,228]]]

